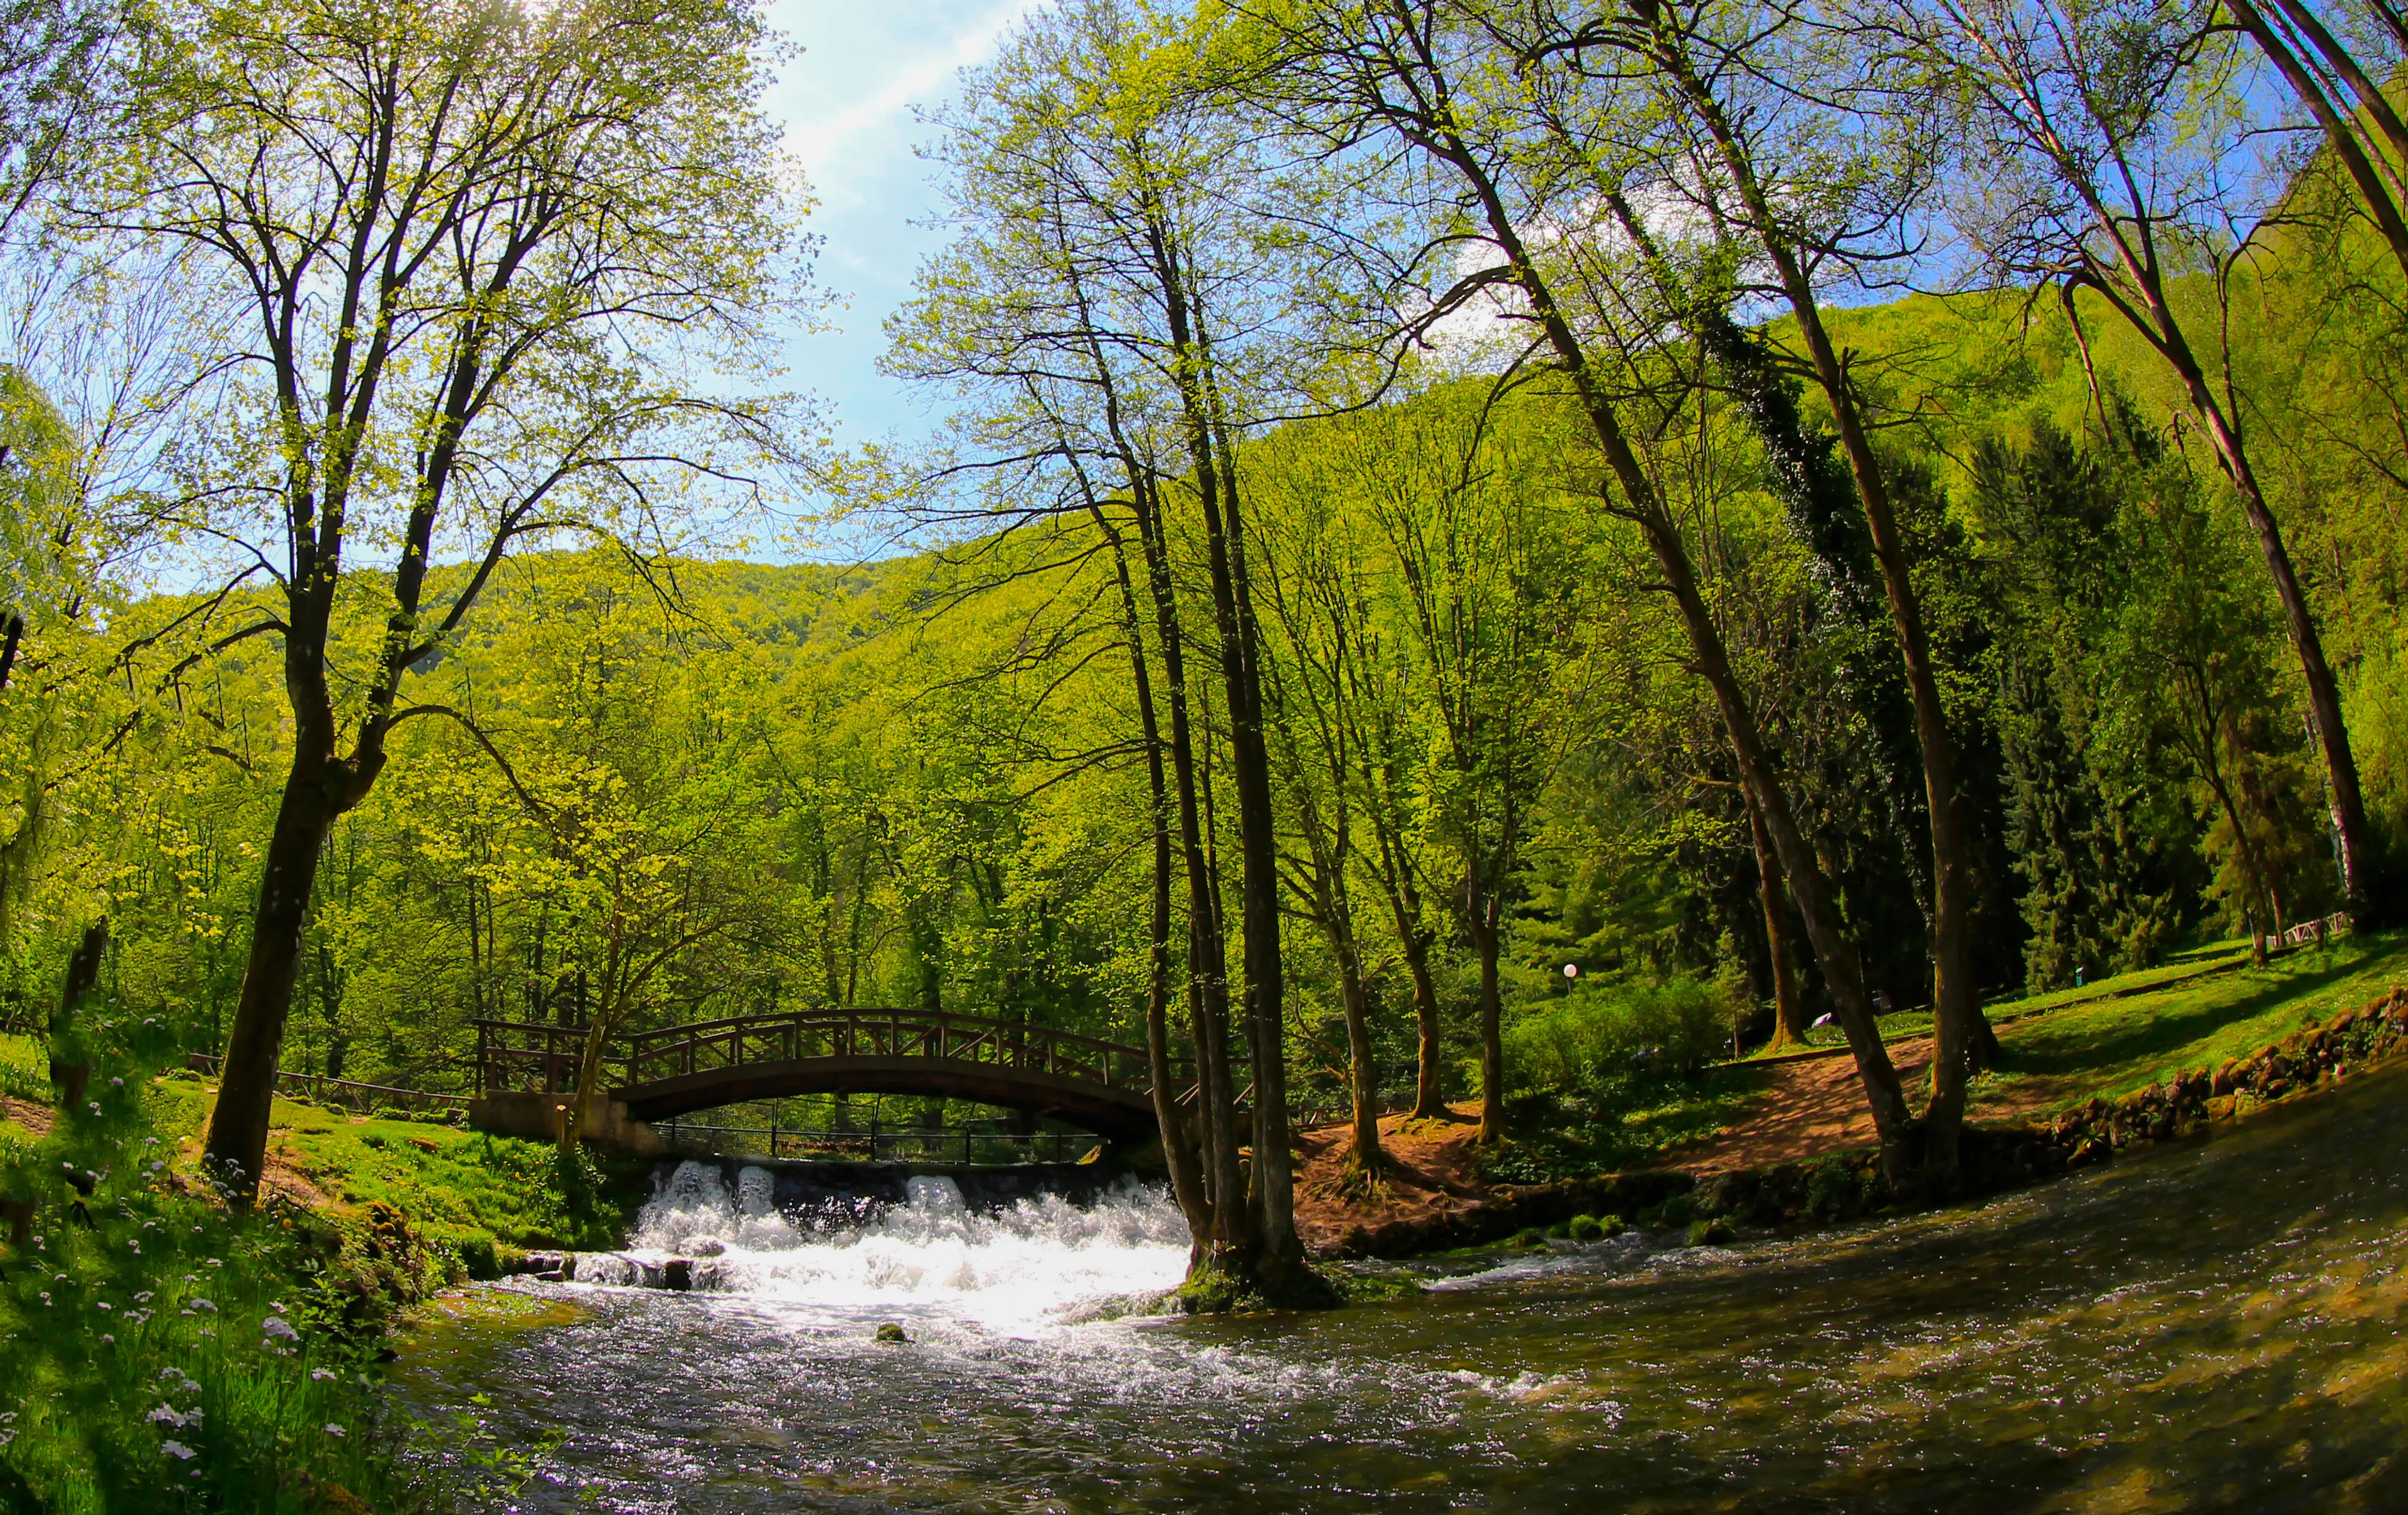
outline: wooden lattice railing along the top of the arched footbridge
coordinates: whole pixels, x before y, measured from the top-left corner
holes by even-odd
[[[576,1089],[585,1028],[484,1019],[472,1024],[479,1093]],[[600,1081],[604,1089],[628,1089],[807,1057],[929,1057],[1045,1072],[1129,1093],[1153,1089],[1144,1048],[942,1009],[797,1009],[621,1031],[602,1048]],[[1170,1069],[1182,1091],[1194,1081],[1187,1057],[1173,1060]]]

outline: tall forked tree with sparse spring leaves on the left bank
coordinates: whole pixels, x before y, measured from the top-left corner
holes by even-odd
[[[277,583],[236,636],[282,643],[294,718],[207,1139],[241,1195],[327,829],[397,725],[458,718],[409,703],[412,672],[513,547],[660,542],[662,484],[773,446],[771,407],[698,371],[749,349],[785,275],[761,39],[722,0],[195,5],[142,34],[108,161],[63,195],[70,231],[181,246],[248,325],[190,484]],[[472,571],[431,605],[445,547]]]

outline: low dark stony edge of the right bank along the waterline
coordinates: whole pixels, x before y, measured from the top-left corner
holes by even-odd
[[[1972,1125],[1965,1183],[1950,1199],[1979,1199],[2247,1118],[2276,1101],[2331,1086],[2408,1050],[2408,985],[2307,1021],[2273,1045],[2220,1067],[2189,1067],[2119,1098],[2090,1098],[2047,1120]],[[1416,1257],[1500,1240],[1536,1243],[1541,1228],[1613,1231],[1623,1224],[1693,1228],[1828,1226],[1900,1209],[1871,1149],[1714,1173],[1635,1171],[1534,1185],[1500,1185],[1493,1199],[1450,1214],[1356,1226],[1327,1257]]]

